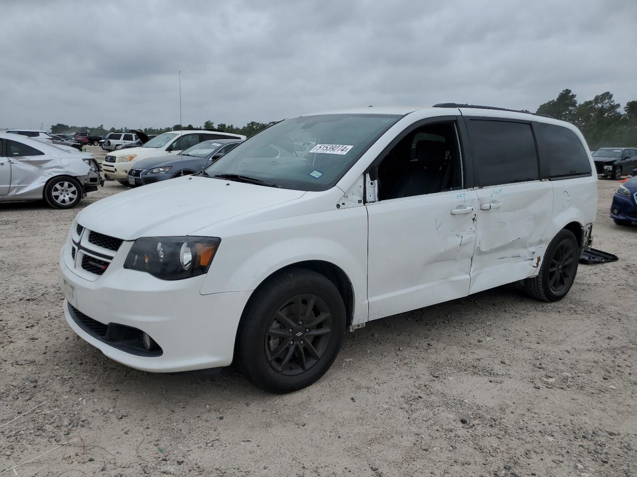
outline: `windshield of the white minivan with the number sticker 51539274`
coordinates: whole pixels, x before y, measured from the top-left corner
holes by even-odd
[[[286,189],[327,190],[401,117],[323,114],[281,121],[236,146],[204,175],[233,174]]]

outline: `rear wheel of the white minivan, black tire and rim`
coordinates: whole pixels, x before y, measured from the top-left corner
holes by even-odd
[[[579,258],[580,247],[573,232],[560,230],[548,244],[540,273],[524,280],[526,292],[536,300],[561,300],[573,286]]]

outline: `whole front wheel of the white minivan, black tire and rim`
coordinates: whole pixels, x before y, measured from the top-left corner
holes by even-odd
[[[239,367],[264,391],[303,389],[334,363],[345,324],[345,305],[333,282],[304,268],[286,270],[248,302],[237,333]]]

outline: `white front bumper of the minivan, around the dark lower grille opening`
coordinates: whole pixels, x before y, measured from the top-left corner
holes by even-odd
[[[114,361],[143,371],[176,372],[228,366],[250,291],[203,295],[205,275],[160,280],[123,268],[132,242],[124,242],[103,275],[87,280],[74,272],[69,238],[60,253],[64,316],[83,340]],[[86,272],[83,272],[86,273]],[[69,304],[101,324],[141,330],[161,347],[161,356],[139,356],[106,343],[78,325]]]

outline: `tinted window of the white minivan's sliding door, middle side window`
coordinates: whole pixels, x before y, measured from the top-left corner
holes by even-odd
[[[471,120],[471,151],[480,186],[536,181],[538,156],[531,125]]]

